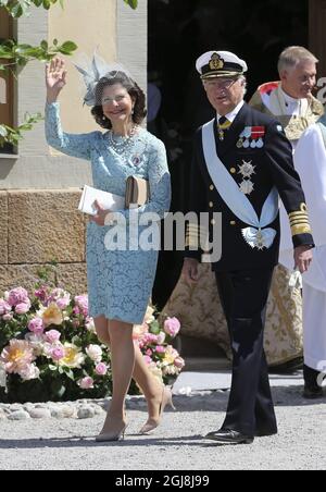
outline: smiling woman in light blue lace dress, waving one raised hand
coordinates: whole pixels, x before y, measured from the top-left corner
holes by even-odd
[[[171,181],[164,145],[140,125],[146,116],[146,98],[138,85],[124,72],[110,72],[88,87],[85,102],[106,133],[100,131],[72,135],[64,133],[58,97],[66,84],[64,61],[57,58],[47,66],[46,134],[49,145],[68,156],[91,162],[93,186],[125,196],[126,180],[137,175],[149,181],[150,200],[137,210],[163,218],[171,201]],[[89,94],[90,93],[90,94]],[[131,377],[148,403],[149,418],[141,429],[155,429],[171,391],[152,376],[133,341],[134,324],[141,324],[150,300],[158,262],[156,250],[114,250],[108,248],[108,233],[116,225],[116,213],[97,202],[97,216],[87,231],[87,270],[90,316],[99,339],[111,347],[113,396],[98,441],[117,441],[127,426],[125,397]],[[131,210],[121,210],[125,234],[130,235]],[[108,225],[106,225],[108,224]],[[114,225],[113,225],[114,224]],[[141,227],[139,234],[141,233]],[[130,248],[131,249],[131,248]]]

